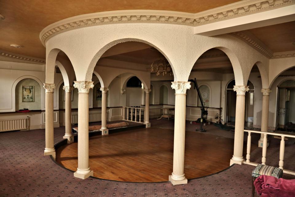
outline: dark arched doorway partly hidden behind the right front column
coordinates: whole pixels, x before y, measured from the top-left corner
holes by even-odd
[[[226,119],[225,123],[233,125],[236,117],[236,93],[234,92],[235,80],[231,80],[226,86]],[[253,128],[254,120],[254,85],[248,81],[249,91],[245,98],[245,127]]]

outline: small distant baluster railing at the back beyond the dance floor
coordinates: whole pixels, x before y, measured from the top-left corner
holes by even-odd
[[[135,123],[144,123],[144,108],[123,107],[123,120]]]

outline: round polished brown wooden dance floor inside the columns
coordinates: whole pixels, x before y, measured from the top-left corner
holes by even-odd
[[[89,138],[89,166],[101,179],[128,182],[167,181],[173,164],[172,129],[140,128]],[[229,167],[234,140],[186,131],[184,173],[187,179]],[[76,171],[77,143],[56,150],[56,161]]]

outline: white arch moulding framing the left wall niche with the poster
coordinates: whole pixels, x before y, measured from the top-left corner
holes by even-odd
[[[33,80],[35,80],[36,82],[39,83],[40,88],[41,88],[41,110],[45,110],[45,107],[44,107],[44,103],[45,103],[44,102],[44,95],[45,95],[45,92],[44,92],[44,87],[43,87],[42,81],[40,79],[38,79],[37,77],[31,76],[31,75],[24,75],[24,76],[21,76],[21,77],[17,78],[13,82],[13,85],[12,85],[12,88],[11,88],[11,92],[12,92],[12,96],[11,96],[12,111],[15,111],[15,87],[17,86],[18,82],[20,82],[23,79],[27,79],[27,78],[33,79]]]

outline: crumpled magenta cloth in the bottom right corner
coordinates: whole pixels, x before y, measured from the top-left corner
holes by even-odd
[[[273,176],[261,175],[255,179],[254,186],[262,197],[295,196],[295,179],[277,179]]]

